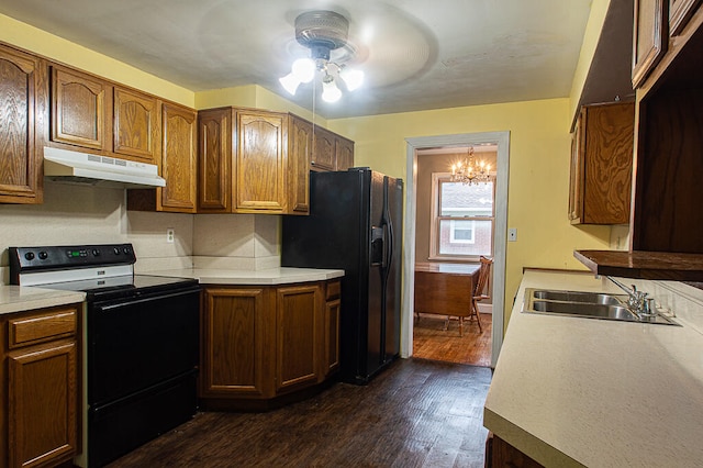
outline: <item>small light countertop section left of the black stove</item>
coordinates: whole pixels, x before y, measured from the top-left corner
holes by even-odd
[[[82,302],[85,292],[23,286],[0,286],[0,314]]]

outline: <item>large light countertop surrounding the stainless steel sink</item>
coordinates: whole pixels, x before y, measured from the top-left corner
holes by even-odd
[[[531,287],[622,292],[590,274],[526,271],[486,427],[545,466],[702,466],[701,333],[681,319],[669,326],[521,313]]]

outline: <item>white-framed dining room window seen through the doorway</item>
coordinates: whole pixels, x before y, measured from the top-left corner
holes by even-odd
[[[465,186],[450,174],[432,175],[432,259],[493,255],[494,182]]]

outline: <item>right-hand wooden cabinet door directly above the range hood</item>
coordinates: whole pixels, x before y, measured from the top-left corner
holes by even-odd
[[[158,164],[159,130],[156,98],[114,88],[114,152],[130,159]]]

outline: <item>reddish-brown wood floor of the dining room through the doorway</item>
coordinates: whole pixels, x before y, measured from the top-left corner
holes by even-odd
[[[476,320],[464,321],[464,336],[459,336],[457,319],[444,330],[445,316],[421,314],[413,327],[413,356],[472,366],[491,366],[491,333],[493,315],[481,314],[481,332]]]

